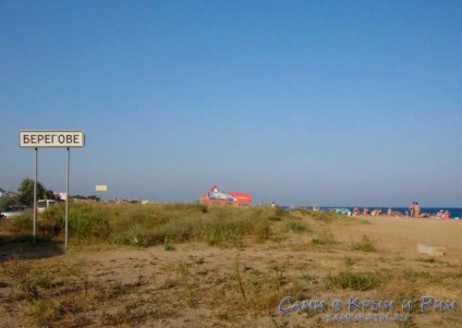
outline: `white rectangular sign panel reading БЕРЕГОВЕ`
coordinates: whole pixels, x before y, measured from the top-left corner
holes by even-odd
[[[20,147],[84,147],[83,131],[20,131]]]

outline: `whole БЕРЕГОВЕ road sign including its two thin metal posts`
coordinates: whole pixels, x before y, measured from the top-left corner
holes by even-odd
[[[70,171],[70,148],[83,148],[85,145],[85,134],[83,131],[42,131],[42,130],[21,130],[19,132],[21,148],[35,148],[35,181],[34,181],[34,228],[33,239],[35,245],[36,221],[37,221],[37,158],[38,148],[66,148],[66,197],[65,197],[65,241],[68,246],[68,229],[69,229],[69,171]]]

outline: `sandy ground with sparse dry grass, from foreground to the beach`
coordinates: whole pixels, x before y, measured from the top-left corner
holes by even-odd
[[[88,309],[78,319],[64,319],[54,327],[462,327],[462,220],[343,217],[321,222],[303,215],[300,219],[312,228],[311,233],[289,232],[264,243],[246,241],[242,248],[187,243],[167,252],[162,246],[136,250],[71,241],[62,254],[50,257],[46,248],[15,246],[1,250],[0,256],[3,263],[12,253],[39,257],[28,262],[50,270],[65,267],[70,276],[106,290],[119,288],[115,296],[99,304],[88,299]],[[326,235],[335,242],[313,243]],[[351,250],[363,235],[374,241],[377,252]],[[446,247],[445,254],[420,254],[420,243]],[[323,288],[326,276],[345,270],[389,278],[368,291]],[[40,327],[23,303],[9,301],[8,279],[0,281],[0,327]],[[295,300],[324,301],[326,308],[284,313],[280,303],[285,296],[292,301],[283,309]],[[457,309],[402,311],[403,300],[414,300],[418,307],[422,296],[455,302]],[[350,297],[394,301],[393,309],[377,313],[408,314],[411,319],[402,324],[331,320],[336,314],[372,314],[367,308],[349,312]],[[336,300],[343,304],[338,313],[331,306]],[[17,315],[9,315],[12,311]]]

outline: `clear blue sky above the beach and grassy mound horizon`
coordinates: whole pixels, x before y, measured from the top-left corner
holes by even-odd
[[[0,1],[0,187],[462,207],[460,1]],[[38,150],[65,190],[65,149]]]

